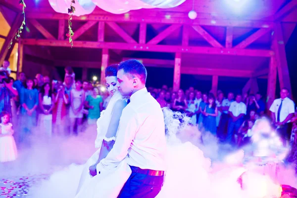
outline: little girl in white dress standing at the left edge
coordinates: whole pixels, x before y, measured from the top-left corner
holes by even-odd
[[[12,124],[7,112],[1,113],[0,123],[0,162],[14,161],[17,157],[17,149],[12,134]]]

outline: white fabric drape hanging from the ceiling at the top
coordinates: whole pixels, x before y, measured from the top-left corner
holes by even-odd
[[[176,7],[186,0],[76,0],[74,15],[81,16],[93,12],[96,6],[113,13],[122,14],[141,8]],[[50,6],[59,13],[68,13],[71,0],[49,0]]]

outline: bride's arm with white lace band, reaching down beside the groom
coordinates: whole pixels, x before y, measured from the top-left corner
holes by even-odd
[[[105,138],[102,141],[99,158],[96,165],[99,163],[101,159],[105,158],[109,153],[109,151],[112,149],[115,141],[116,132],[119,127],[122,111],[126,106],[127,106],[127,102],[125,100],[118,100],[115,103],[114,108],[112,110],[111,119],[108,125]]]

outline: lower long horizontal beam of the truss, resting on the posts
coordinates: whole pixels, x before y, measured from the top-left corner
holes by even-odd
[[[46,40],[46,39],[23,39],[25,45],[71,47],[68,41]],[[194,46],[174,46],[174,45],[149,45],[149,44],[130,44],[130,43],[112,43],[112,42],[94,42],[94,41],[74,41],[76,48],[96,48],[96,49],[114,49],[128,51],[144,52],[167,52],[167,53],[193,53],[193,54],[216,54],[233,56],[251,56],[251,57],[270,57],[274,53],[271,50],[250,50],[250,49],[221,49],[212,47],[194,47]]]

